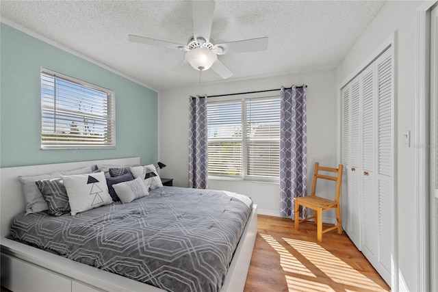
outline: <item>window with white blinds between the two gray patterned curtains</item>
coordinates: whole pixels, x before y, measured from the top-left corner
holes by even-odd
[[[208,102],[207,122],[209,176],[278,180],[278,96]]]

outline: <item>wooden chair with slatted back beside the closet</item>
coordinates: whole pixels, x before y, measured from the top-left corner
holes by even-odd
[[[322,241],[322,233],[326,233],[330,230],[337,228],[337,233],[342,234],[342,222],[341,222],[341,206],[339,204],[339,196],[341,194],[341,185],[342,185],[342,169],[344,166],[339,164],[338,168],[325,168],[320,166],[320,163],[315,163],[315,170],[313,172],[313,182],[312,182],[312,192],[311,196],[298,197],[295,198],[295,229],[298,230],[299,224],[301,222],[305,222],[310,219],[315,219],[315,223],[317,226],[317,239],[318,241]],[[320,174],[319,172],[335,172],[336,176],[330,176],[325,174]],[[335,200],[329,200],[326,198],[320,198],[315,195],[316,191],[316,182],[318,179],[327,179],[330,181],[336,182],[336,191],[335,191]],[[304,220],[299,220],[299,207],[304,206],[313,210],[314,215],[308,217]],[[337,224],[330,228],[326,228],[322,230],[322,211],[326,211],[329,209],[336,209],[336,221]]]

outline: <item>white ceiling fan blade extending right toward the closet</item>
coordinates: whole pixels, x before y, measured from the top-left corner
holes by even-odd
[[[216,44],[214,47],[216,48],[214,51],[218,55],[266,51],[268,49],[268,38],[252,38],[250,40],[224,42],[222,44]],[[222,48],[222,51],[220,48]]]

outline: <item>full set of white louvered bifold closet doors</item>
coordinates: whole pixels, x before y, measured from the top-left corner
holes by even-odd
[[[348,237],[391,284],[394,60],[387,49],[342,88],[342,216]]]

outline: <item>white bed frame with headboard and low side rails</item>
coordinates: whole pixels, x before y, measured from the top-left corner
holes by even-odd
[[[139,157],[0,168],[1,286],[20,291],[163,291],[5,238],[12,217],[25,210],[20,175],[74,170],[93,164],[140,164]],[[221,292],[243,291],[257,235],[257,205],[231,261]]]

